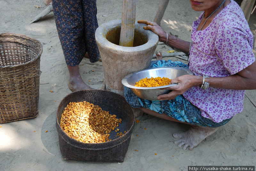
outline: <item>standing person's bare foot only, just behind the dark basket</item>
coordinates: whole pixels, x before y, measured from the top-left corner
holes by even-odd
[[[90,86],[84,83],[82,80],[81,76],[78,77],[70,77],[69,82],[68,82],[68,88],[74,92],[74,91],[80,91],[84,89],[92,89]]]

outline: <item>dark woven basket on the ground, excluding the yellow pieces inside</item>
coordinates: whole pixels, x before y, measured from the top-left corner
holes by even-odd
[[[103,110],[115,114],[122,119],[119,124],[123,136],[116,136],[110,132],[111,141],[105,143],[83,143],[70,138],[60,127],[60,118],[69,102],[87,101],[99,105]],[[103,90],[83,90],[66,96],[59,105],[56,116],[56,128],[59,133],[60,152],[66,160],[123,162],[131,140],[134,127],[134,115],[131,106],[124,97],[116,93]]]

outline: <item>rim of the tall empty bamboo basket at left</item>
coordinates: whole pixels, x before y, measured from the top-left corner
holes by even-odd
[[[36,55],[35,58],[33,58],[32,60],[28,61],[28,62],[25,62],[25,63],[22,63],[22,64],[16,64],[16,65],[6,65],[6,66],[0,66],[0,69],[4,69],[4,68],[15,68],[15,67],[20,67],[20,66],[24,66],[24,65],[28,65],[36,60],[38,60],[40,58],[40,56],[42,55],[43,53],[43,45],[41,44],[41,42],[37,39],[33,39],[33,38],[30,38],[24,34],[16,34],[16,33],[9,33],[9,32],[6,32],[6,33],[1,33],[0,34],[0,43],[2,42],[11,42],[10,40],[8,41],[4,41],[4,37],[11,37],[11,36],[14,36],[14,37],[19,37],[19,38],[22,38],[22,39],[28,39],[28,40],[32,40],[34,41],[34,43],[38,46],[40,46],[40,52]],[[17,42],[17,41],[12,41],[13,43],[21,43],[23,45],[26,45],[26,46],[32,46],[31,44],[24,44],[22,42]]]

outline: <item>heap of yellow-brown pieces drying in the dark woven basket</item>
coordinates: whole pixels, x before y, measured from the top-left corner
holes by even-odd
[[[60,127],[69,137],[84,143],[109,141],[109,133],[122,123],[121,118],[89,102],[70,102],[63,111]]]

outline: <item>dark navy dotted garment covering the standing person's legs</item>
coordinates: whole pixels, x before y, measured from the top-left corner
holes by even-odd
[[[100,54],[95,41],[96,0],[52,0],[52,7],[67,65],[79,65],[86,52],[91,62],[97,62]]]

